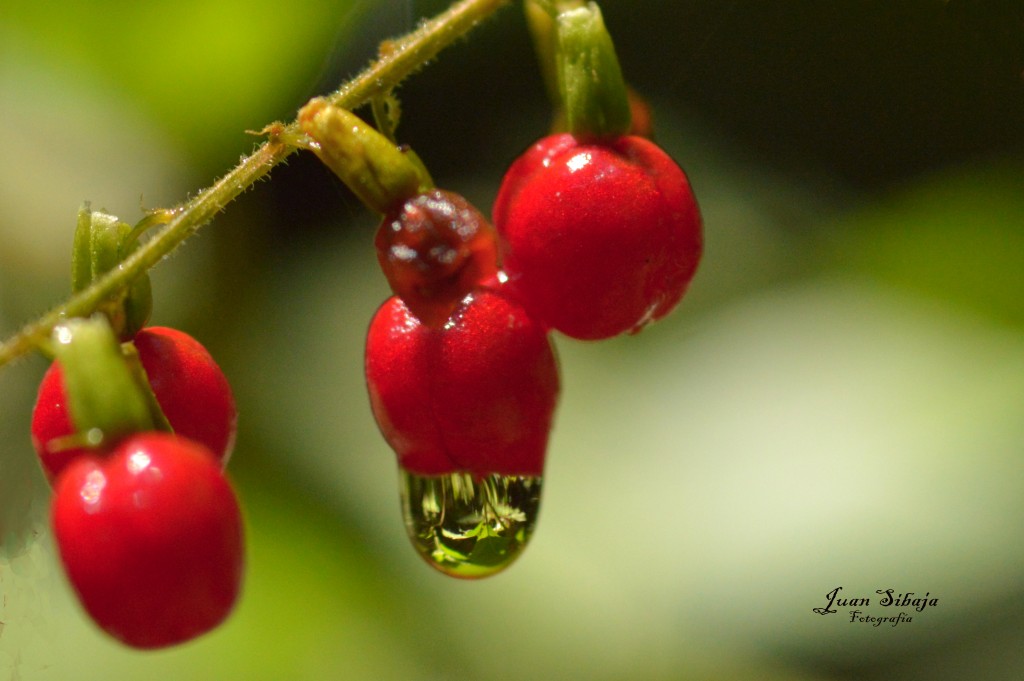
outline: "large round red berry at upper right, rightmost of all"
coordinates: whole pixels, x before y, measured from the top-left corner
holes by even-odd
[[[635,333],[667,314],[702,249],[686,175],[635,136],[545,137],[509,168],[494,219],[523,306],[581,339]]]

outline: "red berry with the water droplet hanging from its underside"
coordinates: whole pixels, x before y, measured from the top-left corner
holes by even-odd
[[[366,370],[406,470],[542,474],[558,368],[544,329],[505,295],[470,294],[442,329],[390,298],[370,325]]]

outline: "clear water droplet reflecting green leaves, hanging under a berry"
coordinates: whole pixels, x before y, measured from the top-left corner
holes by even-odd
[[[399,472],[409,539],[424,560],[445,574],[478,579],[500,572],[534,534],[540,477]]]

